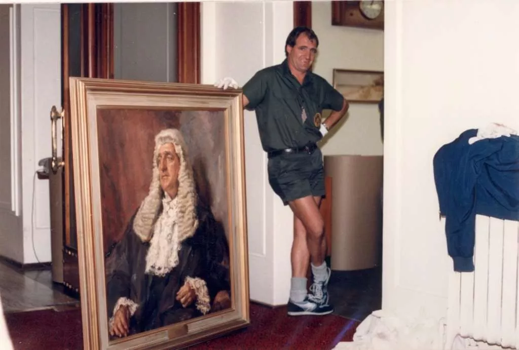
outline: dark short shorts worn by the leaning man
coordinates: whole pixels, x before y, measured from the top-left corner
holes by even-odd
[[[317,148],[307,152],[284,153],[268,160],[268,182],[284,205],[298,198],[324,196],[324,166]]]

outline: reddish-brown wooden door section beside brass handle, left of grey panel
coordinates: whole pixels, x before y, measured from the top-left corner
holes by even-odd
[[[113,77],[113,4],[62,4],[63,284],[79,292],[69,77]]]

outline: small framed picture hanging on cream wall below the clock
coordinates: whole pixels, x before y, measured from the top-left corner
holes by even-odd
[[[384,72],[334,69],[333,87],[348,102],[378,103],[384,96]]]

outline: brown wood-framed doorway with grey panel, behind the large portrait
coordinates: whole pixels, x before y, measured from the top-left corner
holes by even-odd
[[[70,115],[69,77],[199,82],[199,3],[62,4],[62,106]],[[64,120],[62,271],[55,282],[78,296],[70,123]],[[59,215],[59,213],[56,213]]]

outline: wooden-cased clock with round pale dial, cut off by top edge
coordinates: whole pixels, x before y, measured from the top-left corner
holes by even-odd
[[[333,1],[332,25],[384,30],[384,1]]]

